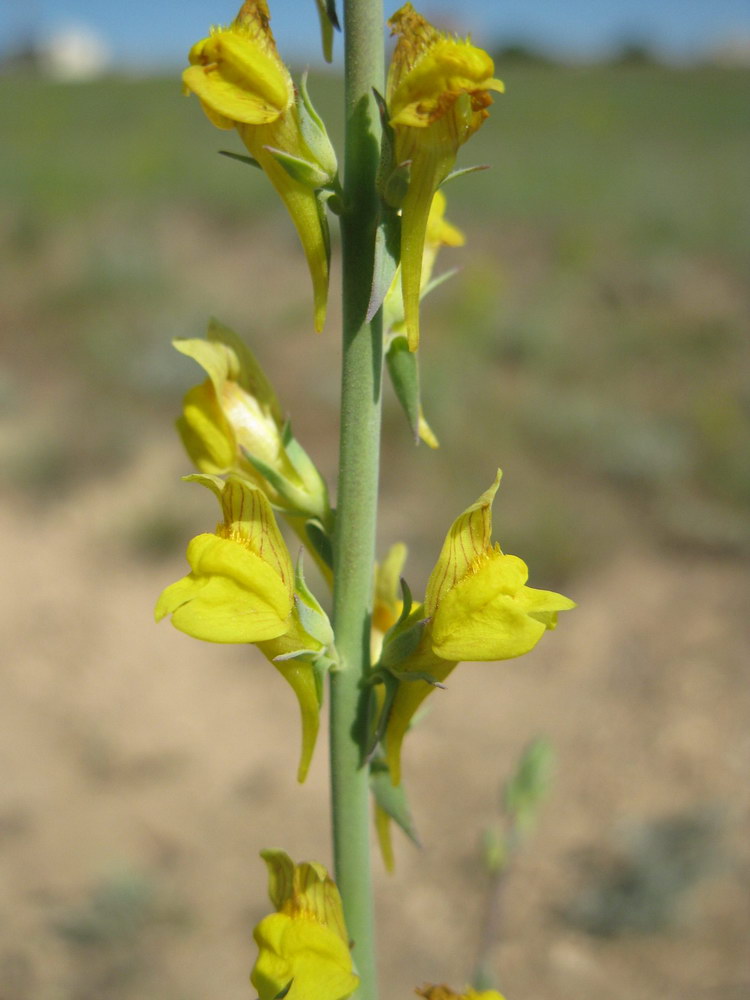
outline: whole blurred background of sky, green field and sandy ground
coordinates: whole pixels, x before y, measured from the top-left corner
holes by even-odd
[[[579,602],[528,657],[468,664],[410,737],[424,847],[376,862],[384,996],[459,987],[482,831],[523,747],[557,769],[491,954],[522,1000],[750,995],[750,13],[717,0],[474,0],[507,86],[448,189],[467,236],[423,306],[415,448],[385,406],[380,551],[419,593],[491,482],[496,537]],[[277,0],[337,143],[341,45]],[[152,623],[213,499],[173,430],[202,377],[170,346],[245,336],[335,482],[337,248],[311,329],[291,223],[182,97],[201,0],[0,6],[0,997],[240,1000],[257,857],[329,861],[291,692],[243,648]],[[340,148],[340,145],[339,145]]]

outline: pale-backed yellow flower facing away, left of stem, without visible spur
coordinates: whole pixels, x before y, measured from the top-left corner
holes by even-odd
[[[242,340],[211,320],[206,340],[173,343],[208,374],[205,382],[188,391],[177,421],[182,443],[198,470],[241,476],[282,510],[317,517],[326,524],[330,516],[326,485],[291,437],[271,383]]]

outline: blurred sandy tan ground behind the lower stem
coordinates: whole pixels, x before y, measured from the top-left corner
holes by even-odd
[[[155,626],[182,557],[122,544],[184,471],[165,437],[57,504],[0,506],[2,1000],[248,998],[258,851],[329,860],[324,743],[298,787],[281,679]],[[504,889],[508,997],[750,996],[746,566],[631,547],[567,590],[554,635],[462,665],[407,744],[424,847],[399,842],[393,877],[376,862],[388,1000],[466,981],[479,836],[541,733],[557,776]]]

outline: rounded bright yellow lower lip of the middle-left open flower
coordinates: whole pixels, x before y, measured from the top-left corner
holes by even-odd
[[[155,617],[208,642],[260,642],[287,628],[292,602],[278,574],[230,539],[198,535],[187,551],[192,572],[167,587]]]

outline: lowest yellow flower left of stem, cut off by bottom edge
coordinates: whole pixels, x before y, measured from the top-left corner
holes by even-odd
[[[255,928],[259,1000],[346,1000],[357,989],[339,891],[323,865],[262,851],[276,912]],[[285,992],[288,991],[288,992]]]

